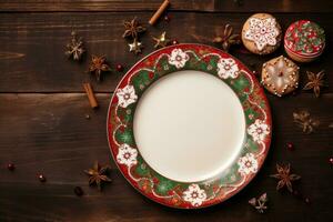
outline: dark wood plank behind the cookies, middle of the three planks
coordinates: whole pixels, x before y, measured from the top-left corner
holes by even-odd
[[[0,92],[82,92],[82,81],[89,79],[85,73],[90,54],[105,54],[114,67],[122,63],[129,69],[140,58],[153,51],[150,36],[158,36],[163,30],[172,39],[180,42],[199,42],[212,44],[218,32],[225,23],[231,23],[235,31],[240,31],[242,23],[251,13],[181,13],[172,12],[170,23],[160,22],[157,27],[149,27],[143,34],[144,53],[135,57],[129,52],[127,41],[121,38],[123,20],[134,17],[147,23],[150,14],[147,12],[110,12],[110,13],[2,13],[0,17]],[[275,14],[283,29],[304,14],[289,13]],[[333,16],[324,13],[306,14],[306,19],[319,22],[326,31],[327,37],[333,36]],[[210,21],[210,22],[208,22]],[[180,28],[181,27],[181,28]],[[82,63],[68,61],[64,57],[64,46],[70,39],[71,30],[77,30],[85,39],[88,57]],[[331,65],[333,51],[332,38],[327,38],[327,49],[320,60],[302,64],[301,71],[320,71],[325,69],[333,72]],[[254,65],[260,71],[261,64],[283,53],[281,48],[274,54],[259,57],[231,51],[245,64]],[[252,68],[252,67],[250,67]],[[94,84],[98,92],[112,92],[123,73],[105,74],[101,84]],[[329,84],[333,85],[333,78],[329,77]],[[332,92],[333,88],[326,89]]]

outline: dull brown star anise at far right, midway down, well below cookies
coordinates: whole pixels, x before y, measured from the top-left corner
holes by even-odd
[[[302,128],[303,132],[310,134],[314,128],[319,127],[320,121],[311,118],[310,112],[302,110],[300,112],[293,112],[294,122]]]

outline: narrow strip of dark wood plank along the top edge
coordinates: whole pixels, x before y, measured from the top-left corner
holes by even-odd
[[[0,11],[154,11],[163,0],[2,0]],[[208,12],[332,12],[333,2],[325,0],[171,0],[170,11]]]

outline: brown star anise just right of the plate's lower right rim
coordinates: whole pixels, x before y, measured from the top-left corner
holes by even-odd
[[[300,180],[301,176],[297,174],[292,174],[290,171],[290,164],[286,165],[279,165],[276,164],[276,174],[272,174],[271,178],[275,178],[279,180],[276,190],[281,190],[282,188],[286,188],[289,192],[293,192],[292,183],[296,180]]]

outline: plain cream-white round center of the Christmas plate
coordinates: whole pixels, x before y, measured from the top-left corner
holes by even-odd
[[[134,138],[145,162],[180,182],[216,176],[235,161],[245,137],[239,98],[222,80],[185,70],[168,74],[140,98]]]

